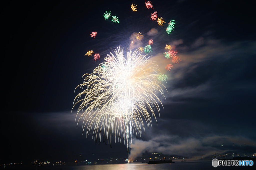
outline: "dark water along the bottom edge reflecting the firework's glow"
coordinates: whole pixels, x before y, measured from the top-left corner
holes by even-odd
[[[54,170],[136,170],[136,169],[145,169],[145,170],[158,170],[158,169],[207,169],[207,170],[219,170],[219,169],[256,169],[254,166],[218,166],[213,167],[211,161],[174,161],[175,163],[169,164],[143,164],[143,163],[125,163],[125,164],[104,164],[104,165],[83,165],[83,166],[61,166],[54,167],[50,169]],[[40,168],[41,169],[41,168]],[[47,168],[48,169],[48,168]]]

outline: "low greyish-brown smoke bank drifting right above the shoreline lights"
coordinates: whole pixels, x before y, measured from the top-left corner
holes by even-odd
[[[129,158],[135,159],[146,151],[161,152],[167,155],[190,156],[200,159],[213,153],[231,151],[228,147],[233,145],[255,146],[255,142],[240,136],[207,136],[207,137],[179,137],[177,135],[159,135],[150,140],[133,139]]]

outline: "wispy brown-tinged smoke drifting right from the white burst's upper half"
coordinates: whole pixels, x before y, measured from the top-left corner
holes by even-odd
[[[182,61],[172,63],[170,59],[164,58],[162,53],[152,57],[161,72],[168,75],[167,84],[164,83],[168,90],[168,94],[165,93],[167,99],[216,98],[223,95],[220,89],[227,87],[227,91],[248,91],[248,88],[253,90],[250,83],[240,81],[243,77],[238,79],[238,75],[247,73],[247,77],[251,76],[252,81],[252,73],[249,70],[254,68],[248,61],[254,60],[256,42],[224,43],[221,40],[199,37],[186,48],[183,40],[174,40],[170,44],[179,51],[178,55]],[[173,64],[174,68],[167,71],[166,64]]]

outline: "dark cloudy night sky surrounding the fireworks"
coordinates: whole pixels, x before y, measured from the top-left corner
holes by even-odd
[[[164,84],[157,124],[133,137],[133,156],[145,151],[181,156],[256,153],[256,38],[252,4],[246,1],[6,2],[2,5],[1,161],[127,157],[124,143],[96,143],[75,122],[74,89],[134,32],[153,55]],[[131,4],[136,4],[136,12]],[[120,24],[105,20],[110,10]],[[176,20],[172,34],[151,13]],[[111,15],[111,16],[112,16]],[[157,33],[150,35],[152,29]],[[93,40],[91,32],[98,34]],[[166,71],[166,44],[182,61]],[[161,48],[160,48],[161,47]],[[100,53],[100,61],[84,56]],[[223,146],[221,146],[223,145]]]

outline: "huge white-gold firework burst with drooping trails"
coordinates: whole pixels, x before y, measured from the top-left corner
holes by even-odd
[[[164,96],[159,73],[159,67],[139,50],[124,56],[118,47],[91,74],[84,74],[84,83],[76,87],[84,90],[74,106],[79,105],[78,122],[83,121],[86,136],[110,144],[111,137],[115,142],[123,138],[128,151],[132,135],[141,136],[144,124],[151,126],[151,114],[156,118],[154,112],[159,113],[158,103],[162,103],[157,94]]]

